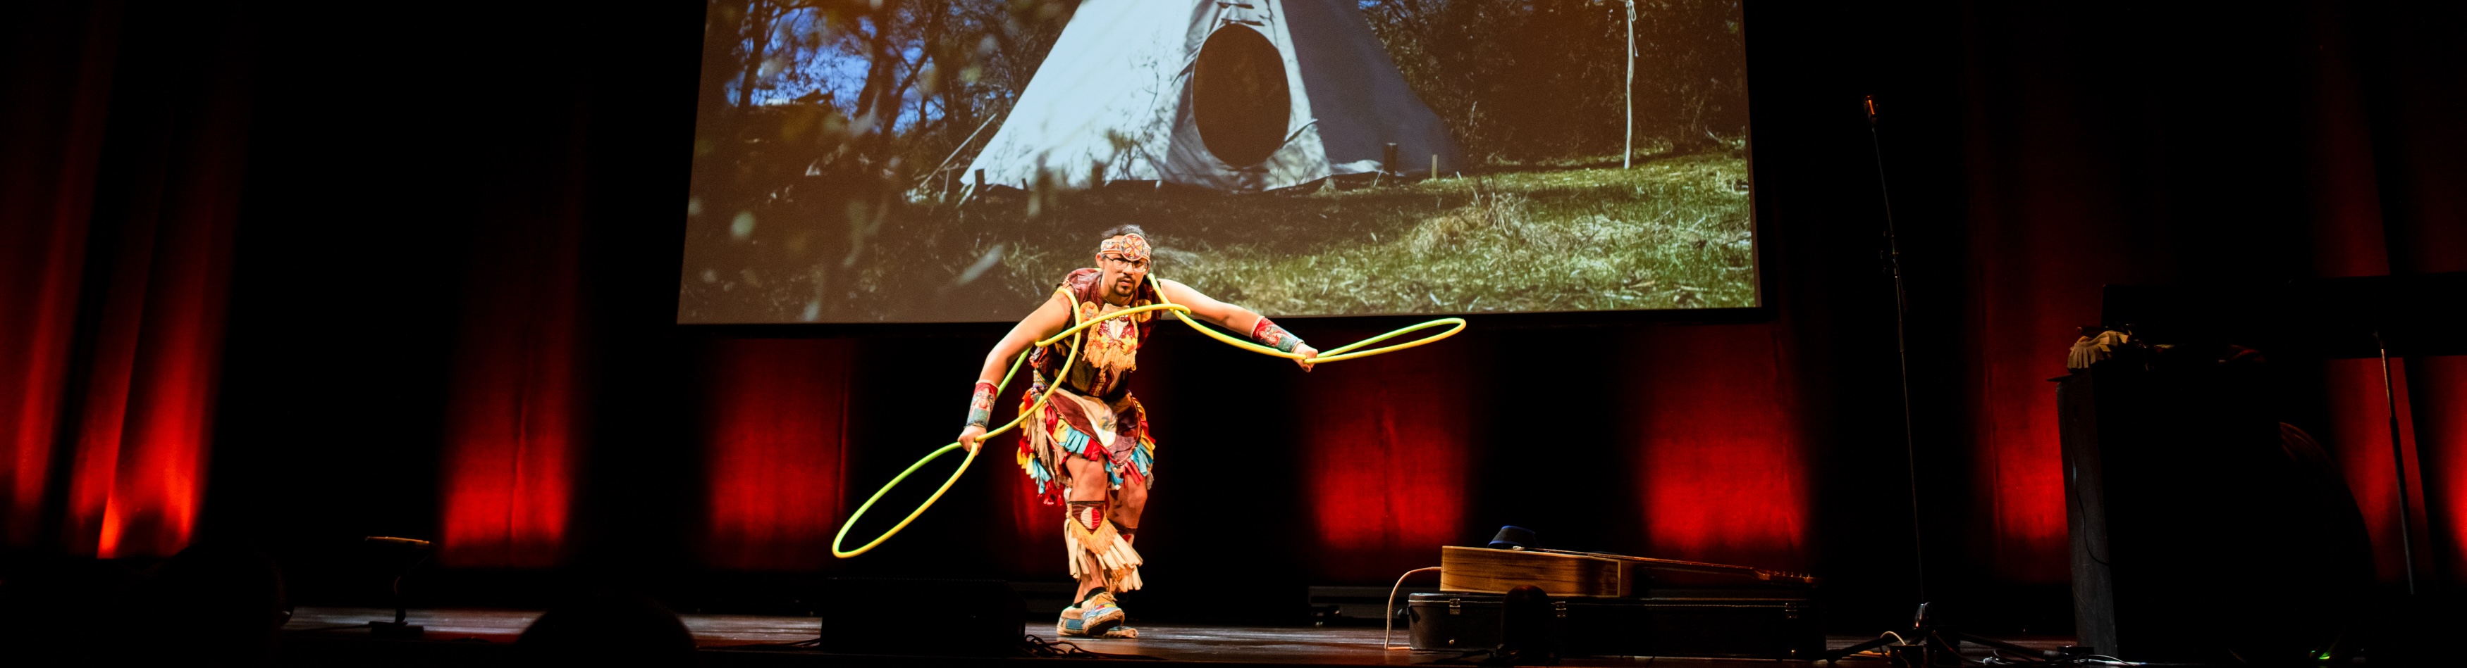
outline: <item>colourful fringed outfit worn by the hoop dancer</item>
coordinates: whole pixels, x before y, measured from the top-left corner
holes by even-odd
[[[1053,291],[1073,303],[1073,325],[1157,303],[1152,283],[1140,283],[1130,306],[1105,303],[1103,271],[1071,271]],[[1036,495],[1046,505],[1061,505],[1071,468],[1063,458],[1100,461],[1105,466],[1108,495],[1122,486],[1147,488],[1155,481],[1157,441],[1147,436],[1147,412],[1130,397],[1130,372],[1137,370],[1140,345],[1155,330],[1155,311],[1113,318],[1078,335],[1078,362],[1071,343],[1029,352],[1036,370],[1029,392],[1019,397],[1019,409],[1029,412],[1048,385],[1061,385],[1044,409],[1019,424],[1019,468],[1036,481]],[[1130,550],[1125,530],[1103,518],[1066,518],[1063,542],[1071,552],[1071,577],[1098,572],[1110,592],[1140,589],[1140,552]]]

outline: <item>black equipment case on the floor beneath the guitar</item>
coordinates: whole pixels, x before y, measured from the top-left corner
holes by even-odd
[[[1673,589],[1653,594],[1552,599],[1554,629],[1547,633],[1562,656],[1813,658],[1826,653],[1823,619],[1813,599],[1739,599],[1739,592]],[[1411,646],[1495,648],[1505,611],[1502,594],[1414,594],[1406,599]]]

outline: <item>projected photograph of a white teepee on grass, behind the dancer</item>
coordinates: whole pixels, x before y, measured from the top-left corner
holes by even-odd
[[[1757,306],[1737,0],[713,0],[678,323]]]

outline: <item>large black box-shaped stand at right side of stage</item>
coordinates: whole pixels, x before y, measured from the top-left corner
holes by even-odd
[[[2351,648],[2373,582],[2363,515],[2321,446],[2275,419],[2260,355],[2122,348],[2057,382],[2082,646],[2171,663]]]

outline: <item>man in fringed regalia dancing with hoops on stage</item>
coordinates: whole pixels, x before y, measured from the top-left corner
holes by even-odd
[[[1248,308],[1214,301],[1184,283],[1150,283],[1147,251],[1147,234],[1137,224],[1108,229],[1098,244],[1095,269],[1063,276],[1053,296],[984,355],[960,444],[977,451],[994,417],[994,387],[1014,355],[1076,320],[1157,303],[1159,288],[1162,301],[1187,306],[1199,320],[1303,355],[1295,365],[1305,372],[1310,357],[1320,355]],[[1019,424],[1019,468],[1036,481],[1036,493],[1048,505],[1066,508],[1063,547],[1071,555],[1071,577],[1078,577],[1078,594],[1056,621],[1061,636],[1140,636],[1122,626],[1122,606],[1113,594],[1140,589],[1140,552],[1130,550],[1130,542],[1140,527],[1140,508],[1147,505],[1157,444],[1147,436],[1147,412],[1130,397],[1127,377],[1137,367],[1140,345],[1159,325],[1150,316],[1157,313],[1113,318],[1078,333],[1078,362],[1068,370],[1063,357],[1071,355],[1071,343],[1029,352],[1036,377],[1021,394],[1019,409],[1029,409],[1048,385],[1061,385],[1039,414]]]

